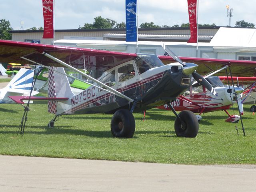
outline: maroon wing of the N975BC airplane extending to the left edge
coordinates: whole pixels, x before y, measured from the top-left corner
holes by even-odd
[[[33,64],[21,58],[23,57],[33,62],[42,63],[45,66],[63,67],[44,56],[43,52],[77,69],[84,69],[84,65],[86,65],[86,69],[91,70],[107,70],[137,56],[137,54],[132,53],[0,40],[0,62]]]

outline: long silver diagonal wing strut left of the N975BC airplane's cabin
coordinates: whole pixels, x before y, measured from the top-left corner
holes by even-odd
[[[63,62],[63,61],[61,61],[61,60],[55,58],[54,56],[51,56],[50,54],[48,54],[48,53],[46,53],[46,52],[42,52],[41,54],[43,54],[43,55],[45,55],[46,57],[48,57],[48,58],[50,58],[50,59],[52,59],[52,60],[58,62],[59,64],[62,64],[62,65],[65,66],[66,68],[70,68],[71,70],[73,70],[73,71],[75,71],[75,72],[78,72],[78,73],[81,74],[82,76],[84,76],[84,77],[86,77],[86,78],[88,78],[88,79],[90,79],[90,80],[92,80],[92,81],[94,81],[94,82],[100,84],[101,86],[107,88],[108,90],[111,90],[111,91],[114,92],[116,95],[118,95],[118,96],[120,96],[120,97],[122,97],[122,98],[124,98],[124,99],[126,99],[126,100],[128,100],[128,101],[130,101],[130,102],[133,102],[133,101],[134,101],[133,99],[127,97],[126,95],[124,95],[124,94],[118,92],[117,90],[115,90],[115,89],[113,89],[113,88],[107,86],[106,84],[104,84],[104,83],[102,83],[102,82],[100,82],[100,81],[94,79],[93,77],[91,77],[91,76],[89,76],[89,75],[87,75],[87,74],[81,72],[80,70],[78,70],[78,69],[76,69],[76,68],[70,66],[69,64],[66,64],[65,62]]]

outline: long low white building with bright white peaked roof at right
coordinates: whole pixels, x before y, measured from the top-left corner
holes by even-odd
[[[56,45],[93,48],[100,50],[138,52],[163,55],[162,45],[170,48],[178,56],[256,60],[256,29],[220,28],[211,42],[136,42],[104,40],[57,40]]]

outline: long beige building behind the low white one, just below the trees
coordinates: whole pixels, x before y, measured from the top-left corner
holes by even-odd
[[[198,30],[199,42],[210,42],[220,27],[200,27]],[[53,39],[43,39],[42,30],[13,30],[12,40],[52,44]],[[187,42],[190,38],[190,28],[139,28],[139,41],[178,41]],[[55,40],[124,40],[125,29],[72,29],[55,30]]]

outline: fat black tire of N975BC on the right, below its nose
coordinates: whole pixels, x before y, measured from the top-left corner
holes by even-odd
[[[176,118],[174,130],[178,137],[196,137],[198,134],[199,124],[196,115],[188,110],[179,113],[183,122]]]

